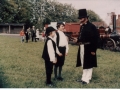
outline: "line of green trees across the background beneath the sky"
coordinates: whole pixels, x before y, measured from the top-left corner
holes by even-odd
[[[0,23],[25,23],[41,29],[50,22],[78,22],[78,10],[55,0],[0,0],[0,6]],[[102,21],[94,11],[87,12],[91,22]]]

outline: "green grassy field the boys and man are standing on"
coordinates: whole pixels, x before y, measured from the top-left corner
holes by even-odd
[[[0,87],[49,88],[45,85],[45,66],[41,58],[44,42],[21,43],[19,37],[0,36]],[[98,67],[88,85],[76,82],[82,68],[76,66],[78,46],[69,45],[63,66],[64,81],[52,81],[54,88],[120,88],[120,52],[97,51]]]

